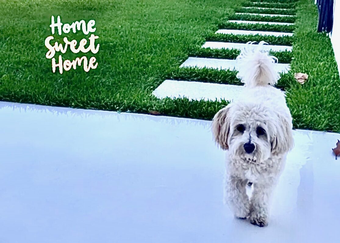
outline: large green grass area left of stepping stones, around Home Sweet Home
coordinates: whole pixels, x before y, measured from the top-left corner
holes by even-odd
[[[142,113],[159,110],[167,115],[209,119],[215,112],[209,103],[160,101],[152,91],[242,2],[1,0],[0,100]],[[64,23],[96,20],[96,44],[100,44],[94,55],[97,69],[86,73],[78,67],[62,75],[51,72],[44,46],[51,35],[51,15],[61,15]],[[63,36],[56,37],[63,43]],[[67,36],[78,41],[88,37],[82,33]],[[66,52],[62,56],[73,60],[82,54]]]

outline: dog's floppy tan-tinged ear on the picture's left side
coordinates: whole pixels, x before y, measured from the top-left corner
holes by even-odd
[[[223,109],[219,110],[219,112],[216,113],[214,118],[212,119],[212,134],[214,135],[215,142],[218,143],[218,145],[223,150],[227,150],[228,143],[227,139],[229,136],[229,130],[230,130],[230,104]]]

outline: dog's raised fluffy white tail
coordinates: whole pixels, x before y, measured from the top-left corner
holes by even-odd
[[[261,41],[258,45],[248,42],[236,58],[238,65],[237,77],[247,87],[275,85],[280,75],[275,70],[274,63],[277,58],[263,50],[267,42]]]

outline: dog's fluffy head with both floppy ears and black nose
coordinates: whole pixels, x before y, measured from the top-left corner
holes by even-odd
[[[222,149],[248,163],[261,163],[293,147],[290,114],[261,104],[229,104],[215,115],[212,132]]]

